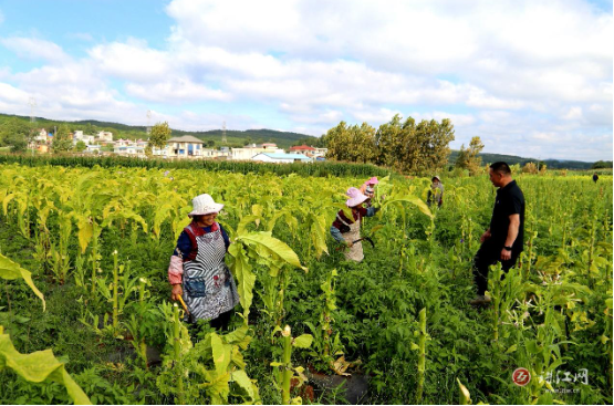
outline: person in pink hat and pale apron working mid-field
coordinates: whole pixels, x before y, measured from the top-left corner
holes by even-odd
[[[346,260],[361,262],[365,258],[363,243],[358,241],[361,239],[361,221],[363,217],[374,216],[379,208],[364,208],[363,204],[368,198],[355,187],[347,189],[345,195],[348,197],[345,205],[352,208],[353,219],[348,219],[343,210],[339,210],[335,221],[331,226],[331,236],[336,241],[347,246],[348,250],[344,252]]]

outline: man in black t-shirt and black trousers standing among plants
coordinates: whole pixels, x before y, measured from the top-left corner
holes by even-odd
[[[498,162],[490,165],[490,181],[498,187],[490,227],[481,236],[481,247],[473,259],[473,281],[477,296],[469,303],[487,304],[489,267],[501,262],[507,272],[516,264],[523,250],[524,239],[524,195],[511,177],[508,164]]]

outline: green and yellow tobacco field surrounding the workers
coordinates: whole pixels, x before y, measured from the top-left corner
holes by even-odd
[[[381,178],[352,263],[329,229],[366,175],[0,164],[0,404],[353,402],[326,375],[363,404],[612,404],[612,176],[513,176],[524,252],[475,309],[488,175],[443,176],[439,209],[430,179]],[[192,343],[167,268],[205,192],[241,303]]]

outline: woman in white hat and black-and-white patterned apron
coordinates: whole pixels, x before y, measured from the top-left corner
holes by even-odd
[[[209,195],[199,195],[191,202],[192,211],[188,215],[191,222],[179,236],[168,267],[170,299],[185,301],[188,308],[185,321],[191,326],[198,320],[209,320],[212,327],[227,330],[239,294],[223,261],[230,239],[216,222],[223,205]]]

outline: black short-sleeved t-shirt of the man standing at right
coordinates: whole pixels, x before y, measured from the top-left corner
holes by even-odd
[[[495,200],[492,218],[490,219],[491,239],[497,244],[500,244],[501,248],[508,238],[511,215],[520,215],[518,237],[512,244],[512,250],[520,252],[523,249],[524,241],[524,195],[522,195],[522,190],[520,190],[516,180],[497,190],[497,199]]]

